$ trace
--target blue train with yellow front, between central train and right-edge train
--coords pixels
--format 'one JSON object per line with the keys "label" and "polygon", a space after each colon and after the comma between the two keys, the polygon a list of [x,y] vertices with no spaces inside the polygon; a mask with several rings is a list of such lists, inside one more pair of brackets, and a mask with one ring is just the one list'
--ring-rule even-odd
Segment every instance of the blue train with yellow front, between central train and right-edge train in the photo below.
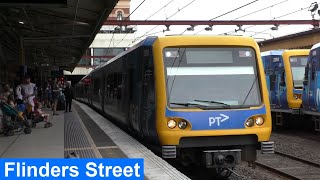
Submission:
{"label": "blue train with yellow front, between central train and right-edge train", "polygon": [[273,125],[298,125],[302,104],[304,68],[310,50],[272,50],[262,52]]}

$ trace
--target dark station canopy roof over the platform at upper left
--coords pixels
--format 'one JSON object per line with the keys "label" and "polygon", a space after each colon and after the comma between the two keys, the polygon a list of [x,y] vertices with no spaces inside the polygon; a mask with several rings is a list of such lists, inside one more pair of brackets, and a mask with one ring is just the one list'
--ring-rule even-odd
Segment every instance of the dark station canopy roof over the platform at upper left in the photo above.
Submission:
{"label": "dark station canopy roof over the platform at upper left", "polygon": [[72,71],[117,2],[1,0],[0,56]]}

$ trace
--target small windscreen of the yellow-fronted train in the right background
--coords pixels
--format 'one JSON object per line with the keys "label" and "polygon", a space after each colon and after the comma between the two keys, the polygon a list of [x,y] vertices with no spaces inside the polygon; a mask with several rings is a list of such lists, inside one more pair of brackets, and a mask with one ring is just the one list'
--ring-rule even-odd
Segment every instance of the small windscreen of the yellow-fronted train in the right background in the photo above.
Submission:
{"label": "small windscreen of the yellow-fronted train in the right background", "polygon": [[295,88],[303,87],[303,78],[305,67],[308,62],[308,56],[291,56],[290,66],[292,72],[293,86]]}

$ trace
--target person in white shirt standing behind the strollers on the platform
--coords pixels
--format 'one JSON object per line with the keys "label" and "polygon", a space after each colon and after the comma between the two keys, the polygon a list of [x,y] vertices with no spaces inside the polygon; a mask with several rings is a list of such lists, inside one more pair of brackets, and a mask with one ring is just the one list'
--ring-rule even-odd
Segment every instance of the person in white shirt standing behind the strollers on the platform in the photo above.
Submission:
{"label": "person in white shirt standing behind the strollers on the platform", "polygon": [[37,88],[36,85],[31,83],[30,76],[25,76],[24,83],[21,84],[23,90],[23,99],[31,105],[31,110],[34,111],[34,98],[36,97]]}

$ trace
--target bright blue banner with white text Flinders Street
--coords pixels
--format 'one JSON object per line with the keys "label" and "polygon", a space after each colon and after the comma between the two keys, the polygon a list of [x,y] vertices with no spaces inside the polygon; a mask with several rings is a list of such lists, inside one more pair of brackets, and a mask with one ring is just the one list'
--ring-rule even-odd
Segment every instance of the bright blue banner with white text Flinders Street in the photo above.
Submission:
{"label": "bright blue banner with white text Flinders Street", "polygon": [[143,159],[0,159],[0,179],[144,179]]}

